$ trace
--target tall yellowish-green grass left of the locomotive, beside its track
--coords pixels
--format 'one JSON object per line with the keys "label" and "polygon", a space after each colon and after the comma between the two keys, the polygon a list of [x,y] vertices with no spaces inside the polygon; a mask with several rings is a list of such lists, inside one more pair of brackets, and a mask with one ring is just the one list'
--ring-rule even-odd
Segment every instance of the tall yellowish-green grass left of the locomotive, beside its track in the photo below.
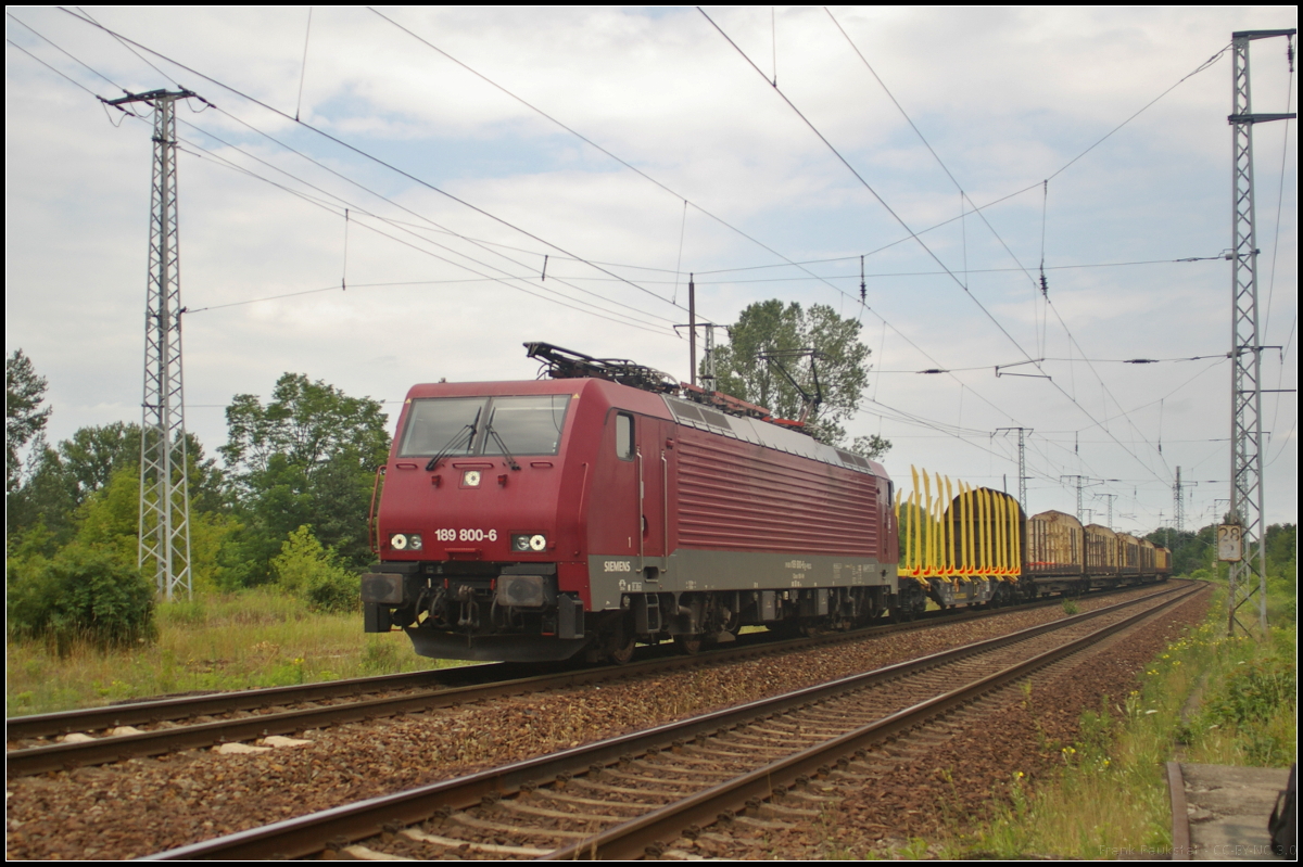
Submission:
{"label": "tall yellowish-green grass left of the locomotive, beside its track", "polygon": [[158,627],[156,643],[107,652],[10,637],[5,715],[457,664],[417,656],[403,633],[365,634],[361,614],[313,613],[267,588],[164,603]]}

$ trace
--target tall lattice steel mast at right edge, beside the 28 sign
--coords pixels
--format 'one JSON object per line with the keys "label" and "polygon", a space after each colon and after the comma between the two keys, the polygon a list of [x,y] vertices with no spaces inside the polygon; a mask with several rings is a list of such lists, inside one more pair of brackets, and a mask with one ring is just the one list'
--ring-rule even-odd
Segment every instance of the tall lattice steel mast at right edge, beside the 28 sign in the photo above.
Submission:
{"label": "tall lattice steel mast at right edge, beside the 28 sign", "polygon": [[[1259,630],[1267,635],[1267,527],[1263,523],[1263,345],[1257,333],[1257,230],[1253,212],[1253,124],[1296,115],[1253,115],[1248,87],[1248,46],[1285,36],[1290,30],[1240,30],[1231,34],[1231,424],[1230,516],[1243,527],[1243,558],[1230,564],[1227,622],[1248,633],[1237,612],[1257,594]],[[1293,47],[1291,47],[1293,48]],[[1257,581],[1253,581],[1257,573]],[[1256,585],[1256,586],[1255,586]]]}

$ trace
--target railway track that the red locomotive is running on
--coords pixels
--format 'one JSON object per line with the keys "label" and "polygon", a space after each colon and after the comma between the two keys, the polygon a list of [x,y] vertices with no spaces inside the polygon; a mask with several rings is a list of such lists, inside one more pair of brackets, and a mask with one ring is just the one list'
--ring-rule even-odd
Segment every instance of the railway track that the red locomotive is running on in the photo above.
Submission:
{"label": "railway track that the red locomotive is running on", "polygon": [[[697,656],[667,656],[655,652],[657,648],[649,648],[652,651],[646,654],[649,659],[629,665],[576,667],[525,677],[521,674],[530,670],[529,667],[499,663],[14,717],[5,721],[7,776],[9,778],[31,776],[137,756],[294,734],[330,725],[423,712],[506,695],[718,665],[1055,604],[1059,604],[1058,599],[1012,609],[933,612],[932,617],[908,624],[870,626],[848,633],[790,640],[775,642],[760,635],[749,639],[744,635],[735,646]],[[224,719],[215,719],[219,716]],[[63,742],[56,741],[68,734],[73,737]]]}

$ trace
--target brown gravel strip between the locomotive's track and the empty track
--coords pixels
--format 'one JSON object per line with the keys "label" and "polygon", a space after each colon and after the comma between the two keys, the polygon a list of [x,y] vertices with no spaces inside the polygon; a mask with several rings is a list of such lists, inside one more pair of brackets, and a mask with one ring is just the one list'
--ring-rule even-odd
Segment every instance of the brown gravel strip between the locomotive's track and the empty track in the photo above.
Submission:
{"label": "brown gravel strip between the locomotive's track and the empty track", "polygon": [[[1139,588],[1081,600],[1079,605],[1092,611],[1149,592],[1153,588]],[[1058,607],[1011,611],[692,672],[311,730],[300,736],[310,741],[308,745],[265,752],[190,750],[10,780],[5,786],[5,855],[134,858],[791,691],[1063,616]]]}

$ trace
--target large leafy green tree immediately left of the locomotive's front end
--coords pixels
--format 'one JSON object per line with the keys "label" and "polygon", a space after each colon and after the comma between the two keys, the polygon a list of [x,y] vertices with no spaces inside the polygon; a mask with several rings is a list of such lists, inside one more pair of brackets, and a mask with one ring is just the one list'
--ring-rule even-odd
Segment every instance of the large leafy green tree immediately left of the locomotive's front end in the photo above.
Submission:
{"label": "large leafy green tree immediately left of the locomotive's front end", "polygon": [[370,558],[366,513],[375,467],[390,448],[380,404],[301,374],[276,381],[271,401],[237,394],[227,407],[225,458],[242,529],[228,552],[238,583],[271,581],[271,560],[291,532],[311,526],[344,562]]}

